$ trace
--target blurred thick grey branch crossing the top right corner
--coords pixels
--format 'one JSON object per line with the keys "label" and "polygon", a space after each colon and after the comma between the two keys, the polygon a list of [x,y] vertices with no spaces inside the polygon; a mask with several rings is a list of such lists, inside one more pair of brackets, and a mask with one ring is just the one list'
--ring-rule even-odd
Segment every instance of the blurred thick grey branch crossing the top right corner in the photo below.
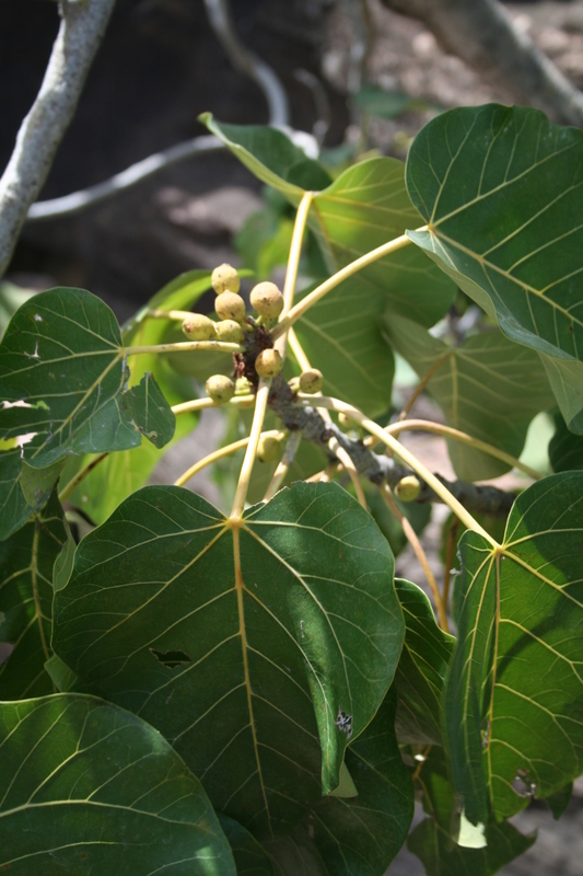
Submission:
{"label": "blurred thick grey branch crossing the top right corner", "polygon": [[381,0],[393,12],[418,19],[453,55],[517,103],[544,110],[555,122],[583,127],[583,93],[520,33],[497,0]]}

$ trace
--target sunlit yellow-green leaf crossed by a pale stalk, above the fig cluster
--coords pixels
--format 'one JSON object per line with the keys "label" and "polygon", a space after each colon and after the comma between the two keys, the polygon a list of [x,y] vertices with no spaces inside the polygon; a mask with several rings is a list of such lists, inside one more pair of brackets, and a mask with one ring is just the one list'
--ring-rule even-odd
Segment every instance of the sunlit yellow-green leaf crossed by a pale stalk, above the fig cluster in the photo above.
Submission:
{"label": "sunlit yellow-green leaf crossed by a pale stalk, above the fig cluster", "polygon": [[[362,161],[341,173],[314,198],[310,221],[330,272],[422,223],[407,194],[405,165],[392,158]],[[447,311],[455,286],[416,246],[404,246],[345,281],[342,293],[429,326]],[[360,307],[352,303],[352,311]]]}

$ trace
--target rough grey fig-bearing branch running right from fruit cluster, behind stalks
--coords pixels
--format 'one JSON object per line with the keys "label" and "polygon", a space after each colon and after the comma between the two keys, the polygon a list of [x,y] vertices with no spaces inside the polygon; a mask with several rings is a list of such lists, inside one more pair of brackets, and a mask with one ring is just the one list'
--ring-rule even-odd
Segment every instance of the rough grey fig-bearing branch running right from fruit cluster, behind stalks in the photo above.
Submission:
{"label": "rough grey fig-bearing branch running right from fruit cluster, behind stalks", "polygon": [[[302,437],[320,447],[328,456],[328,442],[335,437],[339,446],[347,451],[354,463],[357,472],[371,483],[381,486],[388,484],[395,487],[411,471],[399,465],[389,457],[373,453],[362,441],[354,440],[341,431],[334,423],[327,423],[315,407],[294,404],[295,395],[281,377],[271,384],[269,406],[290,431],[301,430]],[[516,498],[513,493],[505,493],[493,486],[476,486],[465,481],[446,481],[438,475],[450,493],[474,514],[487,514],[492,517],[506,517]],[[423,482],[417,502],[442,502],[442,499]]]}

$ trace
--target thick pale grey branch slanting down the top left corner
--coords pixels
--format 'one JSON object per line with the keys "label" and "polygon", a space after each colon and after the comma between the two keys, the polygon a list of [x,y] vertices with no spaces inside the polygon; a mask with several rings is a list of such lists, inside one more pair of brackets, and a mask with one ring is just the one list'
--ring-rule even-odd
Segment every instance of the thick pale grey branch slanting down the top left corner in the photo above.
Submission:
{"label": "thick pale grey branch slanting down the top left corner", "polygon": [[0,180],[0,276],[69,127],[115,0],[62,0],[45,78]]}

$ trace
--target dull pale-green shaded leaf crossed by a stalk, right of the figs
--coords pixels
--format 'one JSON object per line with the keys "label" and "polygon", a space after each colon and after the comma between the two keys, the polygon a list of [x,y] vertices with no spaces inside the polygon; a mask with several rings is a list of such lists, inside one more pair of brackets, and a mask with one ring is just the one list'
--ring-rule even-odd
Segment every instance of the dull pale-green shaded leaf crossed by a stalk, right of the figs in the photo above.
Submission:
{"label": "dull pale-green shaded leaf crossed by a stalk, right of the figs", "polygon": [[[553,404],[538,355],[500,332],[473,335],[450,347],[410,320],[389,316],[385,333],[420,378],[430,368],[438,369],[428,390],[445,414],[447,426],[513,457],[521,456],[533,417]],[[457,476],[464,481],[488,481],[512,468],[460,441],[448,439],[447,449]]]}

